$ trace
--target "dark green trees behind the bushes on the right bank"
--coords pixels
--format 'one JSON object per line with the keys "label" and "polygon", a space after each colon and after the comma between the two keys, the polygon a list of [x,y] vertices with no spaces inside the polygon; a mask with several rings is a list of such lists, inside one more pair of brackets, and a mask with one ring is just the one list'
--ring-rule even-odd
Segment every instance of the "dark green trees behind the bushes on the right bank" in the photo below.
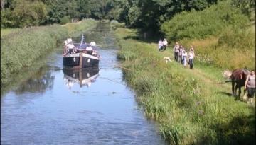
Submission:
{"label": "dark green trees behind the bushes on the right bank", "polygon": [[217,0],[166,1],[166,0],[115,0],[117,8],[122,8],[118,21],[144,31],[159,30],[159,26],[181,11],[198,11],[216,4]]}

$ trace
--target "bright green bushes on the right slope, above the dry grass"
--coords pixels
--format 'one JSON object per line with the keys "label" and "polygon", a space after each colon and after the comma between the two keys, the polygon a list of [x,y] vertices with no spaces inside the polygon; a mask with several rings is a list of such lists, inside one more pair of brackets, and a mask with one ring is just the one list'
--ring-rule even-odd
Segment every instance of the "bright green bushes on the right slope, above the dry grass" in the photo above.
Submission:
{"label": "bright green bushes on the right slope, above the dry grass", "polygon": [[238,8],[223,1],[203,11],[182,12],[161,25],[161,31],[169,40],[188,38],[206,38],[218,35],[230,25],[245,28],[249,20]]}

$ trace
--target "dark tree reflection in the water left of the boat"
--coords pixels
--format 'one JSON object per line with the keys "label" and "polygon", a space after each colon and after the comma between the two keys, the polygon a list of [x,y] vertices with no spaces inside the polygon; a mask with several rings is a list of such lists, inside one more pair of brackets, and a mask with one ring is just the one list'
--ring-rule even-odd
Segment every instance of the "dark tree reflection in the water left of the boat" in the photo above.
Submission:
{"label": "dark tree reflection in the water left of the boat", "polygon": [[53,88],[55,76],[52,75],[52,71],[49,71],[48,66],[43,66],[39,69],[35,75],[28,79],[27,81],[21,83],[15,93],[21,95],[23,93],[43,93],[47,88]]}

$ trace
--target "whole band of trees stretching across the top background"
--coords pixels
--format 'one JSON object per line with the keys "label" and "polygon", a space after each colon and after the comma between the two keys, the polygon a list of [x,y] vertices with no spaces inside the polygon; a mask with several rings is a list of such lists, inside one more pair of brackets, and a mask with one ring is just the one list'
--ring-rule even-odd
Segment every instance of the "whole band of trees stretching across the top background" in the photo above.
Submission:
{"label": "whole band of trees stretching across the top background", "polygon": [[[67,23],[82,18],[114,19],[127,27],[158,31],[161,24],[183,11],[203,11],[227,0],[1,0],[1,28]],[[255,1],[234,0],[249,15]]]}

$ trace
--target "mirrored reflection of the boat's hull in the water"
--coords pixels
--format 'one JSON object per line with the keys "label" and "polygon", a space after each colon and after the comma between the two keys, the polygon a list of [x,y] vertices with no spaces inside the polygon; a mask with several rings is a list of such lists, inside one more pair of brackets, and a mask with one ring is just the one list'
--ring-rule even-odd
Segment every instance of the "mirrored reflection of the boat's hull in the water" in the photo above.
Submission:
{"label": "mirrored reflection of the boat's hull in the water", "polygon": [[63,68],[64,81],[68,88],[71,88],[74,83],[78,83],[80,87],[90,87],[99,76],[99,68],[90,69],[67,69]]}

